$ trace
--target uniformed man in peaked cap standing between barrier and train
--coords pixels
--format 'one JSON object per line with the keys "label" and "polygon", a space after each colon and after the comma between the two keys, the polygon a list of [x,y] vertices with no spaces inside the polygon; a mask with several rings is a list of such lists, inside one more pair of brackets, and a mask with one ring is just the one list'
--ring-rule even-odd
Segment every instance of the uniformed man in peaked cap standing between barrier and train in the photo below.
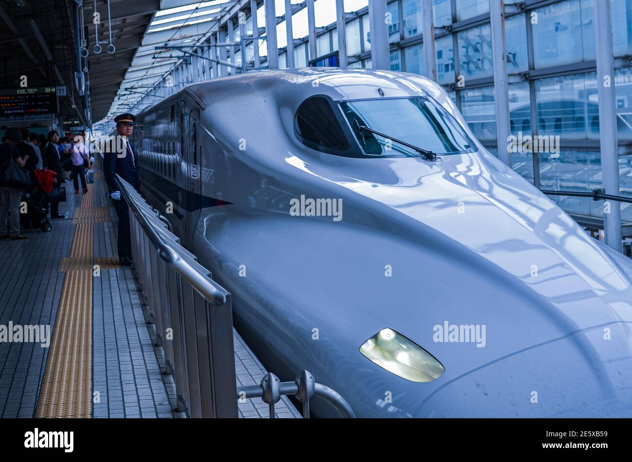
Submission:
{"label": "uniformed man in peaked cap standing between barrier and train", "polygon": [[[131,235],[130,235],[130,210],[125,199],[121,196],[119,187],[116,184],[114,175],[118,174],[126,182],[131,184],[137,190],[140,188],[140,179],[138,178],[137,159],[135,155],[134,145],[130,141],[131,134],[134,131],[134,122],[136,117],[133,114],[121,114],[114,117],[116,122],[116,133],[123,141],[122,152],[112,148],[104,154],[103,170],[106,177],[107,186],[110,188],[110,197],[114,200],[114,210],[118,215],[118,254],[119,263],[123,266],[131,265]],[[120,140],[114,143],[115,146],[121,146]]]}

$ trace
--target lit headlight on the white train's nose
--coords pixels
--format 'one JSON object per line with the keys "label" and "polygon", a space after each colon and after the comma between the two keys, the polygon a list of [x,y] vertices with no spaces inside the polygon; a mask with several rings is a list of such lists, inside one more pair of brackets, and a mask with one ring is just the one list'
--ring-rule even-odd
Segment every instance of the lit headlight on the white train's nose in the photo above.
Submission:
{"label": "lit headlight on the white train's nose", "polygon": [[443,365],[415,342],[393,329],[382,329],[360,346],[360,353],[375,364],[411,382],[432,382]]}

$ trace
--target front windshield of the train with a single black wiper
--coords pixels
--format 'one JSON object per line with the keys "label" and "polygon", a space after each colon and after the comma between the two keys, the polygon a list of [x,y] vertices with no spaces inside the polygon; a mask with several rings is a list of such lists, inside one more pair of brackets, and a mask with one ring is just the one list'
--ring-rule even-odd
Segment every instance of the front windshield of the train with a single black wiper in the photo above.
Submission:
{"label": "front windshield of the train with a single black wiper", "polygon": [[[427,98],[390,98],[341,103],[365,154],[382,157],[475,152],[465,130]],[[417,149],[415,149],[417,148]]]}

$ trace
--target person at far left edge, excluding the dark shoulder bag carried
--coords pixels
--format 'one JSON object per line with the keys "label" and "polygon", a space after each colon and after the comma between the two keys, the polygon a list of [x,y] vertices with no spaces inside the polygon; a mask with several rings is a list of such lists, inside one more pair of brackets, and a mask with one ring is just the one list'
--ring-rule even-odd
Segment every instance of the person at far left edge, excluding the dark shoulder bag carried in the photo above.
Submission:
{"label": "person at far left edge, excluding the dark shoulder bag carried", "polygon": [[[0,171],[4,171],[9,167],[11,162],[16,162],[21,169],[24,168],[28,161],[23,160],[20,151],[15,145],[20,141],[21,134],[17,128],[9,128],[4,134],[6,142],[0,145]],[[2,206],[0,208],[0,239],[27,239],[28,236],[20,233],[20,200],[22,191],[16,187],[8,187],[0,185],[0,200]],[[7,219],[9,223],[7,224]]]}

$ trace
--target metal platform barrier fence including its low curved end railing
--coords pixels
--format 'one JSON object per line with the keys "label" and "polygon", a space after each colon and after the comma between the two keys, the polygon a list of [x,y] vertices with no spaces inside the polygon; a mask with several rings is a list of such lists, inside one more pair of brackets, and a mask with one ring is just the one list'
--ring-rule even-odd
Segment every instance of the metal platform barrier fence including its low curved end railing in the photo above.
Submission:
{"label": "metal platform barrier fence including its low curved end railing", "polygon": [[307,370],[295,382],[267,374],[260,385],[237,388],[230,293],[212,280],[197,258],[179,244],[159,214],[128,182],[116,175],[130,210],[133,273],[143,307],[155,324],[165,372],[173,375],[178,412],[187,417],[238,417],[238,400],[262,398],[270,406],[282,395],[295,395],[309,417],[315,397],[334,405],[343,417],[354,417],[344,398],[316,383]]}

